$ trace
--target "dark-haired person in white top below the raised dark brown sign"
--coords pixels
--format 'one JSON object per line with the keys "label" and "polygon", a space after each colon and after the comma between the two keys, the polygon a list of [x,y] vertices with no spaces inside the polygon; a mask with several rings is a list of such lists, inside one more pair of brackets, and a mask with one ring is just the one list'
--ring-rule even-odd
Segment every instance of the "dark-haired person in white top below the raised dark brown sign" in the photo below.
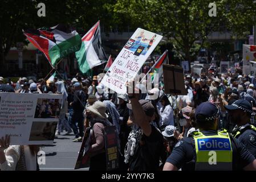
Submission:
{"label": "dark-haired person in white top below the raised dark brown sign", "polygon": [[174,126],[173,109],[170,106],[170,102],[166,95],[160,98],[160,103],[162,105],[161,109],[159,110],[160,127],[164,130],[168,125]]}

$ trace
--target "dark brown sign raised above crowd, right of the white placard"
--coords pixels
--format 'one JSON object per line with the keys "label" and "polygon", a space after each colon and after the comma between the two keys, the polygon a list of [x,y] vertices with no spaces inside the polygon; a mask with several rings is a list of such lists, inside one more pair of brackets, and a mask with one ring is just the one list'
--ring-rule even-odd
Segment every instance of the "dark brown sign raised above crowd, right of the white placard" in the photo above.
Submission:
{"label": "dark brown sign raised above crowd, right of the white placard", "polygon": [[183,69],[178,66],[163,64],[164,93],[174,95],[188,94],[185,89]]}

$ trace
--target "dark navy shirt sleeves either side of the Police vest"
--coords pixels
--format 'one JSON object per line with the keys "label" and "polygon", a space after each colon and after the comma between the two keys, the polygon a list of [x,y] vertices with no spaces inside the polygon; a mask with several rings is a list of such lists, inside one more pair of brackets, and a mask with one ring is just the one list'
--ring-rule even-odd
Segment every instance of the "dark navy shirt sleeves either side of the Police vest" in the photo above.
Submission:
{"label": "dark navy shirt sleeves either side of the Police vest", "polygon": [[[216,131],[201,132],[206,136],[217,135]],[[235,140],[237,141],[238,148],[235,147],[234,142],[231,140],[233,170],[241,170],[253,162],[255,158],[239,140]],[[170,154],[166,162],[173,164],[177,168],[182,168],[182,171],[194,171],[196,166],[196,147],[194,145],[193,137],[183,138],[174,146],[172,154]]]}

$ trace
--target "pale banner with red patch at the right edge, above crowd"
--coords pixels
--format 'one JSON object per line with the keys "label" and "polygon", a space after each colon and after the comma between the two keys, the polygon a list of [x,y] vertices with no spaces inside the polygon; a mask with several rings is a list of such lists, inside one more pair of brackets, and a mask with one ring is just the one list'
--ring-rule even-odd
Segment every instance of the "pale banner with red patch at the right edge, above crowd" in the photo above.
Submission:
{"label": "pale banner with red patch at the right edge, above crowd", "polygon": [[245,75],[251,73],[253,64],[250,64],[250,61],[256,61],[256,46],[243,44],[243,74]]}

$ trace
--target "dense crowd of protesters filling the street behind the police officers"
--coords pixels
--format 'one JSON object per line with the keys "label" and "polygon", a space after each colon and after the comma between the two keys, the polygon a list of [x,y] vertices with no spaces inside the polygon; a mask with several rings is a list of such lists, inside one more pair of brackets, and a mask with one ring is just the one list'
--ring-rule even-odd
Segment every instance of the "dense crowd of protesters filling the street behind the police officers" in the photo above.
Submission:
{"label": "dense crowd of protesters filling the street behind the police officers", "polygon": [[[231,132],[235,123],[225,106],[232,105],[237,100],[247,100],[253,110],[250,122],[255,125],[256,78],[242,75],[240,70],[220,74],[211,69],[201,75],[185,74],[184,83],[188,94],[176,97],[165,94],[164,86],[145,90],[145,82],[135,83],[140,90],[139,94],[112,93],[100,82],[99,76],[91,78],[79,74],[67,80],[55,77],[48,82],[23,77],[14,83],[0,77],[0,90],[9,85],[9,89],[13,88],[15,93],[62,93],[55,135],[64,134],[64,130],[65,134],[73,132],[75,138],[72,141],[81,142],[86,127],[91,126],[88,150],[91,157],[90,170],[106,169],[105,126],[114,125],[117,129],[119,169],[141,171],[161,170],[176,143],[199,130],[195,113],[202,103],[217,105],[220,108],[218,130],[226,129]],[[159,85],[163,84],[160,82]],[[46,107],[45,109],[43,112],[47,112]],[[8,143],[8,138],[0,140],[2,143],[5,141]],[[6,149],[7,143],[1,144],[0,168],[17,169],[15,166],[22,148],[10,146]],[[30,147],[30,150],[36,151],[36,148]],[[3,151],[6,158],[3,157]],[[14,156],[12,160],[11,156]]]}

